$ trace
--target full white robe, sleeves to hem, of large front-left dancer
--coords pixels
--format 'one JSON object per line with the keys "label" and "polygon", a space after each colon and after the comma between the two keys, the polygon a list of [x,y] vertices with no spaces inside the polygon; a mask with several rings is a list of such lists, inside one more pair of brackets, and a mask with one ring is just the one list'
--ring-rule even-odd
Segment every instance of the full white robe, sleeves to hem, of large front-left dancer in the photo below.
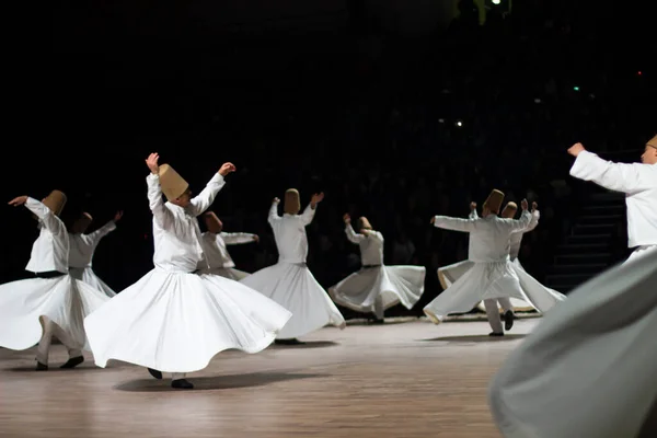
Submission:
{"label": "full white robe, sleeves to hem, of large front-left dancer", "polygon": [[206,260],[196,217],[212,204],[223,177],[216,174],[187,208],[162,200],[158,175],[147,183],[155,267],[84,320],[96,365],[116,359],[185,373],[224,349],[266,348],[290,313],[237,281],[193,274]]}

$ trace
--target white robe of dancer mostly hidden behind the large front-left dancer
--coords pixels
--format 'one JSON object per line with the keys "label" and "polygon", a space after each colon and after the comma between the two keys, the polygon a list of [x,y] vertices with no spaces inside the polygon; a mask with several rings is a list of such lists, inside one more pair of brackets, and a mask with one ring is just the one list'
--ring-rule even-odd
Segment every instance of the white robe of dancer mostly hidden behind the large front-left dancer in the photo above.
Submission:
{"label": "white robe of dancer mostly hidden behind the large front-left dancer", "polygon": [[255,239],[255,234],[249,233],[227,233],[219,234],[206,231],[200,239],[203,252],[207,258],[207,267],[198,266],[204,274],[214,274],[221,277],[230,278],[240,281],[249,276],[247,273],[235,269],[235,263],[228,253],[227,245],[237,245],[241,243],[251,243]]}

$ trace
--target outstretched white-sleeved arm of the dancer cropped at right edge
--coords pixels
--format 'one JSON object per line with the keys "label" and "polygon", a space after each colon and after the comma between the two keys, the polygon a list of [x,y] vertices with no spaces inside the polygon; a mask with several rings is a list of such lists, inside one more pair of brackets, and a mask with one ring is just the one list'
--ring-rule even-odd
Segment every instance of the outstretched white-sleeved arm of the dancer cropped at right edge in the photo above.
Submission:
{"label": "outstretched white-sleeved arm of the dancer cropped at right edge", "polygon": [[576,178],[592,181],[607,189],[626,194],[643,192],[657,184],[655,171],[648,164],[606,161],[585,150],[580,143],[568,149],[568,152],[576,157],[570,168],[570,175]]}

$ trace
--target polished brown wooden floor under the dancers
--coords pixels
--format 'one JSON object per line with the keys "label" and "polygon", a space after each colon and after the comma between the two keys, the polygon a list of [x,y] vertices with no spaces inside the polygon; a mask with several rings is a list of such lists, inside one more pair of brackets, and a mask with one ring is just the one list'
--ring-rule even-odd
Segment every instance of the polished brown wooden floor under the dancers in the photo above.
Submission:
{"label": "polished brown wooden floor under the dancers", "polygon": [[35,372],[34,351],[0,349],[0,437],[499,438],[489,378],[538,320],[489,338],[485,322],[324,328],[306,346],[226,351],[172,390],[146,369],[88,360]]}

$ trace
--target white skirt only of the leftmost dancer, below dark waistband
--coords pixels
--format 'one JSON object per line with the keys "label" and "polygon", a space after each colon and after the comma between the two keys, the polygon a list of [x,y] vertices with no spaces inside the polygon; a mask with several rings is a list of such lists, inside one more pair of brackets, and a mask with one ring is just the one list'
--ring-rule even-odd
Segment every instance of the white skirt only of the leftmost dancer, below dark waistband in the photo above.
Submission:
{"label": "white skirt only of the leftmost dancer, below dark waistband", "polygon": [[0,286],[0,346],[23,350],[36,345],[46,316],[70,337],[72,348],[89,350],[83,321],[110,298],[70,275],[28,278]]}

